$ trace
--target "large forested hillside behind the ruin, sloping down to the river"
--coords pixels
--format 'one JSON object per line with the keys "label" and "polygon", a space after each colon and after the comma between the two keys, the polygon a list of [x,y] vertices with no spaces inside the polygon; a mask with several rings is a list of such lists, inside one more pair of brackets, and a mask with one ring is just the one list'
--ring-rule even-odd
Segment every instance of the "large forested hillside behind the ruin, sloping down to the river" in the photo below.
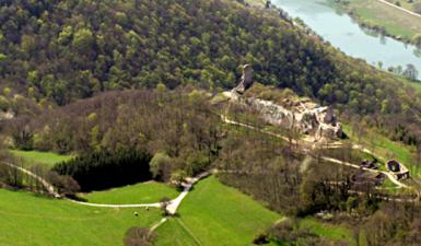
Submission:
{"label": "large forested hillside behind the ruin, sloping down to the river", "polygon": [[[239,2],[239,3],[238,3]],[[366,115],[389,137],[419,142],[420,96],[400,79],[321,44],[273,10],[243,1],[2,1],[2,85],[44,105],[104,90],[233,87],[238,66],[256,80],[291,87]]]}

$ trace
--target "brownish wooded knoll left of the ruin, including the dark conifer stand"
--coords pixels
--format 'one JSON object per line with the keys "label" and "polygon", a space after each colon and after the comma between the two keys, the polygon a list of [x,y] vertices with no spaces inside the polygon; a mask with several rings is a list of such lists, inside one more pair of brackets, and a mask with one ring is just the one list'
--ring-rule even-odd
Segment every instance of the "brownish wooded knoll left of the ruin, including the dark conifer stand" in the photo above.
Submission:
{"label": "brownish wooded knoll left of the ruin, including the dark conifer stand", "polygon": [[20,117],[8,121],[3,132],[16,148],[79,154],[56,171],[72,176],[83,189],[122,185],[119,165],[127,165],[121,172],[128,172],[128,183],[136,179],[130,175],[137,175],[136,181],[151,175],[162,180],[173,173],[176,179],[195,175],[218,155],[222,138],[219,116],[204,91],[168,91],[163,84],[155,90],[108,92],[37,117]]}

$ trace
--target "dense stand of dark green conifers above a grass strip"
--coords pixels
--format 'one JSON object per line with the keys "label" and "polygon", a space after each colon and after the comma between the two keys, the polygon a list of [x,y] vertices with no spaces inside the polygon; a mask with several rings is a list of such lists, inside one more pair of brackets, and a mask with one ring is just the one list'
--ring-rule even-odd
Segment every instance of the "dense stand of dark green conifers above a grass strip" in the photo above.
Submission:
{"label": "dense stand of dark green conifers above a grass strip", "polygon": [[150,154],[136,149],[101,150],[57,164],[52,169],[74,178],[82,191],[91,191],[150,180]]}

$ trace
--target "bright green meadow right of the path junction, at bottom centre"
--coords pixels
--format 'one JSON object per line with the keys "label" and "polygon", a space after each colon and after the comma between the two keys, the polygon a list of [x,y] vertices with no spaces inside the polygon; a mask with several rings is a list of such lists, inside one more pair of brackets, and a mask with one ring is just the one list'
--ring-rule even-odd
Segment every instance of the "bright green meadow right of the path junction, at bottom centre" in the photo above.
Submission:
{"label": "bright green meadow right of the path junction, at bottom centre", "polygon": [[[185,227],[178,230],[183,229],[184,235],[192,234],[199,245],[206,246],[252,245],[256,235],[282,218],[213,176],[195,186],[183,201],[179,215]],[[177,244],[176,235],[165,227],[157,230],[157,236],[159,246],[184,246]]]}

